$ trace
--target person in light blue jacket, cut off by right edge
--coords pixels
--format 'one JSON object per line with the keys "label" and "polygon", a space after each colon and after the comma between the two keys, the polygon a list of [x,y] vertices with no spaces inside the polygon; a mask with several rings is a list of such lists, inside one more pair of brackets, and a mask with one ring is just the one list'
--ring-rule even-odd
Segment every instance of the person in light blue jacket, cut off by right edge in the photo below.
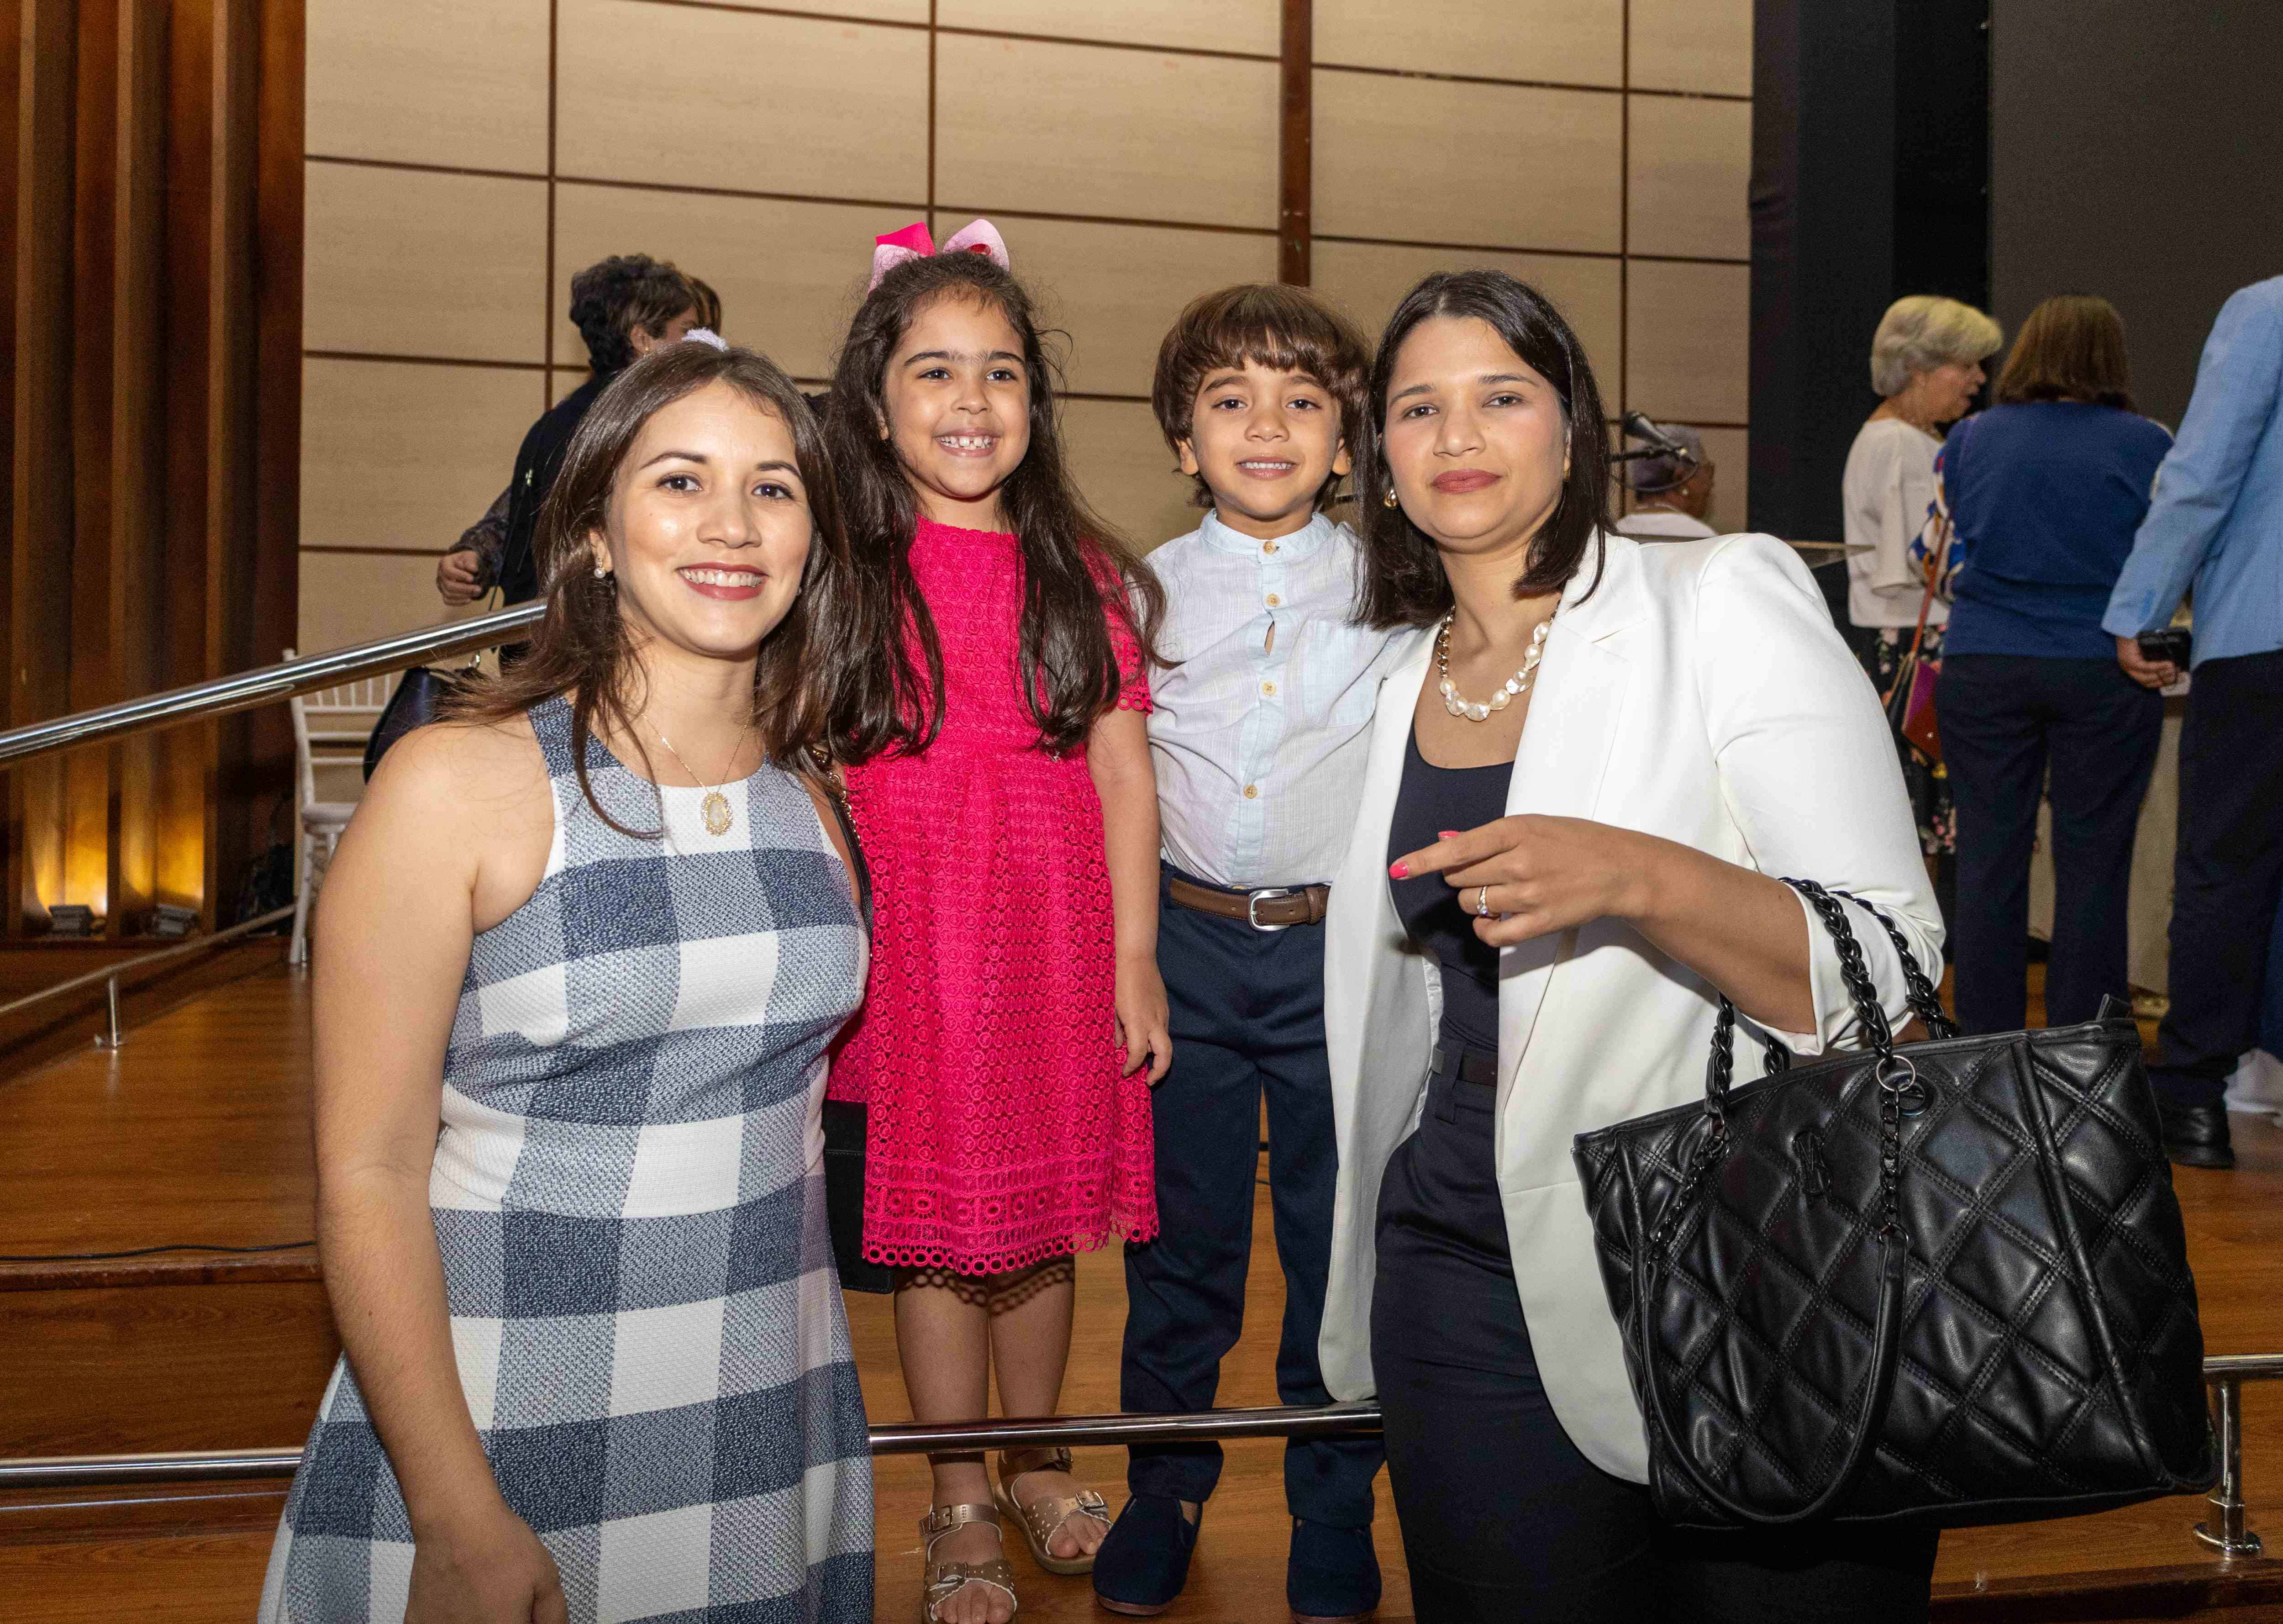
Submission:
{"label": "person in light blue jacket, cut off by right edge", "polygon": [[2180,439],[2157,468],[2100,628],[2157,688],[2176,672],[2137,637],[2194,589],[2196,681],[2180,733],[2171,1012],[2148,1069],[2176,1163],[2233,1167],[2221,1090],[2258,1046],[2283,891],[2283,276],[2237,290],[2212,322]]}

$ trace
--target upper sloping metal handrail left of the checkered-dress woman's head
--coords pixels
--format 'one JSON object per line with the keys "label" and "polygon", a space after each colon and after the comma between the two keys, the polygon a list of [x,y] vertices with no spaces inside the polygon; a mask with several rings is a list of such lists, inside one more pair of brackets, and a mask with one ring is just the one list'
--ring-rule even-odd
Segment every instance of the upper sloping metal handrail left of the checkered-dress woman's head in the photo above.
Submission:
{"label": "upper sloping metal handrail left of the checkered-dress woman's head", "polygon": [[377,642],[361,642],[347,649],[331,649],[326,653],[306,653],[299,660],[285,660],[283,665],[265,665],[253,672],[217,676],[210,683],[171,688],[164,694],[148,694],[144,699],[103,706],[100,710],[80,710],[78,715],[57,717],[53,722],[34,722],[32,726],[9,729],[7,733],[0,733],[0,767],[11,767],[21,761],[32,761],[34,756],[53,756],[62,749],[100,745],[103,740],[126,738],[128,733],[148,733],[162,726],[180,726],[185,722],[231,715],[233,710],[272,706],[297,694],[313,694],[320,688],[354,683],[361,676],[386,676],[388,672],[402,672],[452,653],[491,649],[493,644],[507,642],[509,633],[532,626],[546,617],[546,603],[518,603],[511,610],[479,614],[473,621],[422,626],[420,630],[397,633],[395,637],[381,637]]}

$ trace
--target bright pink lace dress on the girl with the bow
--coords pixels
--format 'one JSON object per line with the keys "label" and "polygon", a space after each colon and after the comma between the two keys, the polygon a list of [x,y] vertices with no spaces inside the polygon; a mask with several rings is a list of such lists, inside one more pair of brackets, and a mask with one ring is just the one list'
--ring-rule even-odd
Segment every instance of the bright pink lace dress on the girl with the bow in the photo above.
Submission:
{"label": "bright pink lace dress on the girl with the bow", "polygon": [[[1121,1078],[1103,809],[1084,749],[1048,756],[1021,699],[1011,534],[920,521],[943,731],[849,770],[872,863],[872,978],[831,1096],[868,1108],[863,1249],[1000,1275],[1157,1233],[1148,1083]],[[1123,690],[1148,681],[1110,614]]]}

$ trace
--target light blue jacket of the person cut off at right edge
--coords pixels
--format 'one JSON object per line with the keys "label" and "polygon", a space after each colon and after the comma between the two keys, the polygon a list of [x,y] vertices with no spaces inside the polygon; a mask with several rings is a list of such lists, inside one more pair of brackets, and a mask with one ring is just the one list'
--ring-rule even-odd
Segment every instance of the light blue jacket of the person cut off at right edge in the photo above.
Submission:
{"label": "light blue jacket of the person cut off at right edge", "polygon": [[2194,662],[2283,649],[2283,276],[2219,306],[2180,439],[2100,628],[2137,637],[2196,587]]}

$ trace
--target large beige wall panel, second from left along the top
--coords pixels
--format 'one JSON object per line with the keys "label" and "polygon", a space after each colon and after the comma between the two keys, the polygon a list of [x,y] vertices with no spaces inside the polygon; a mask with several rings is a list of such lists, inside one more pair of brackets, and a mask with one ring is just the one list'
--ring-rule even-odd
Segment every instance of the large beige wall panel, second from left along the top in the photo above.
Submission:
{"label": "large beige wall panel, second from left along the top", "polygon": [[758,11],[562,0],[557,171],[927,196],[927,34]]}

